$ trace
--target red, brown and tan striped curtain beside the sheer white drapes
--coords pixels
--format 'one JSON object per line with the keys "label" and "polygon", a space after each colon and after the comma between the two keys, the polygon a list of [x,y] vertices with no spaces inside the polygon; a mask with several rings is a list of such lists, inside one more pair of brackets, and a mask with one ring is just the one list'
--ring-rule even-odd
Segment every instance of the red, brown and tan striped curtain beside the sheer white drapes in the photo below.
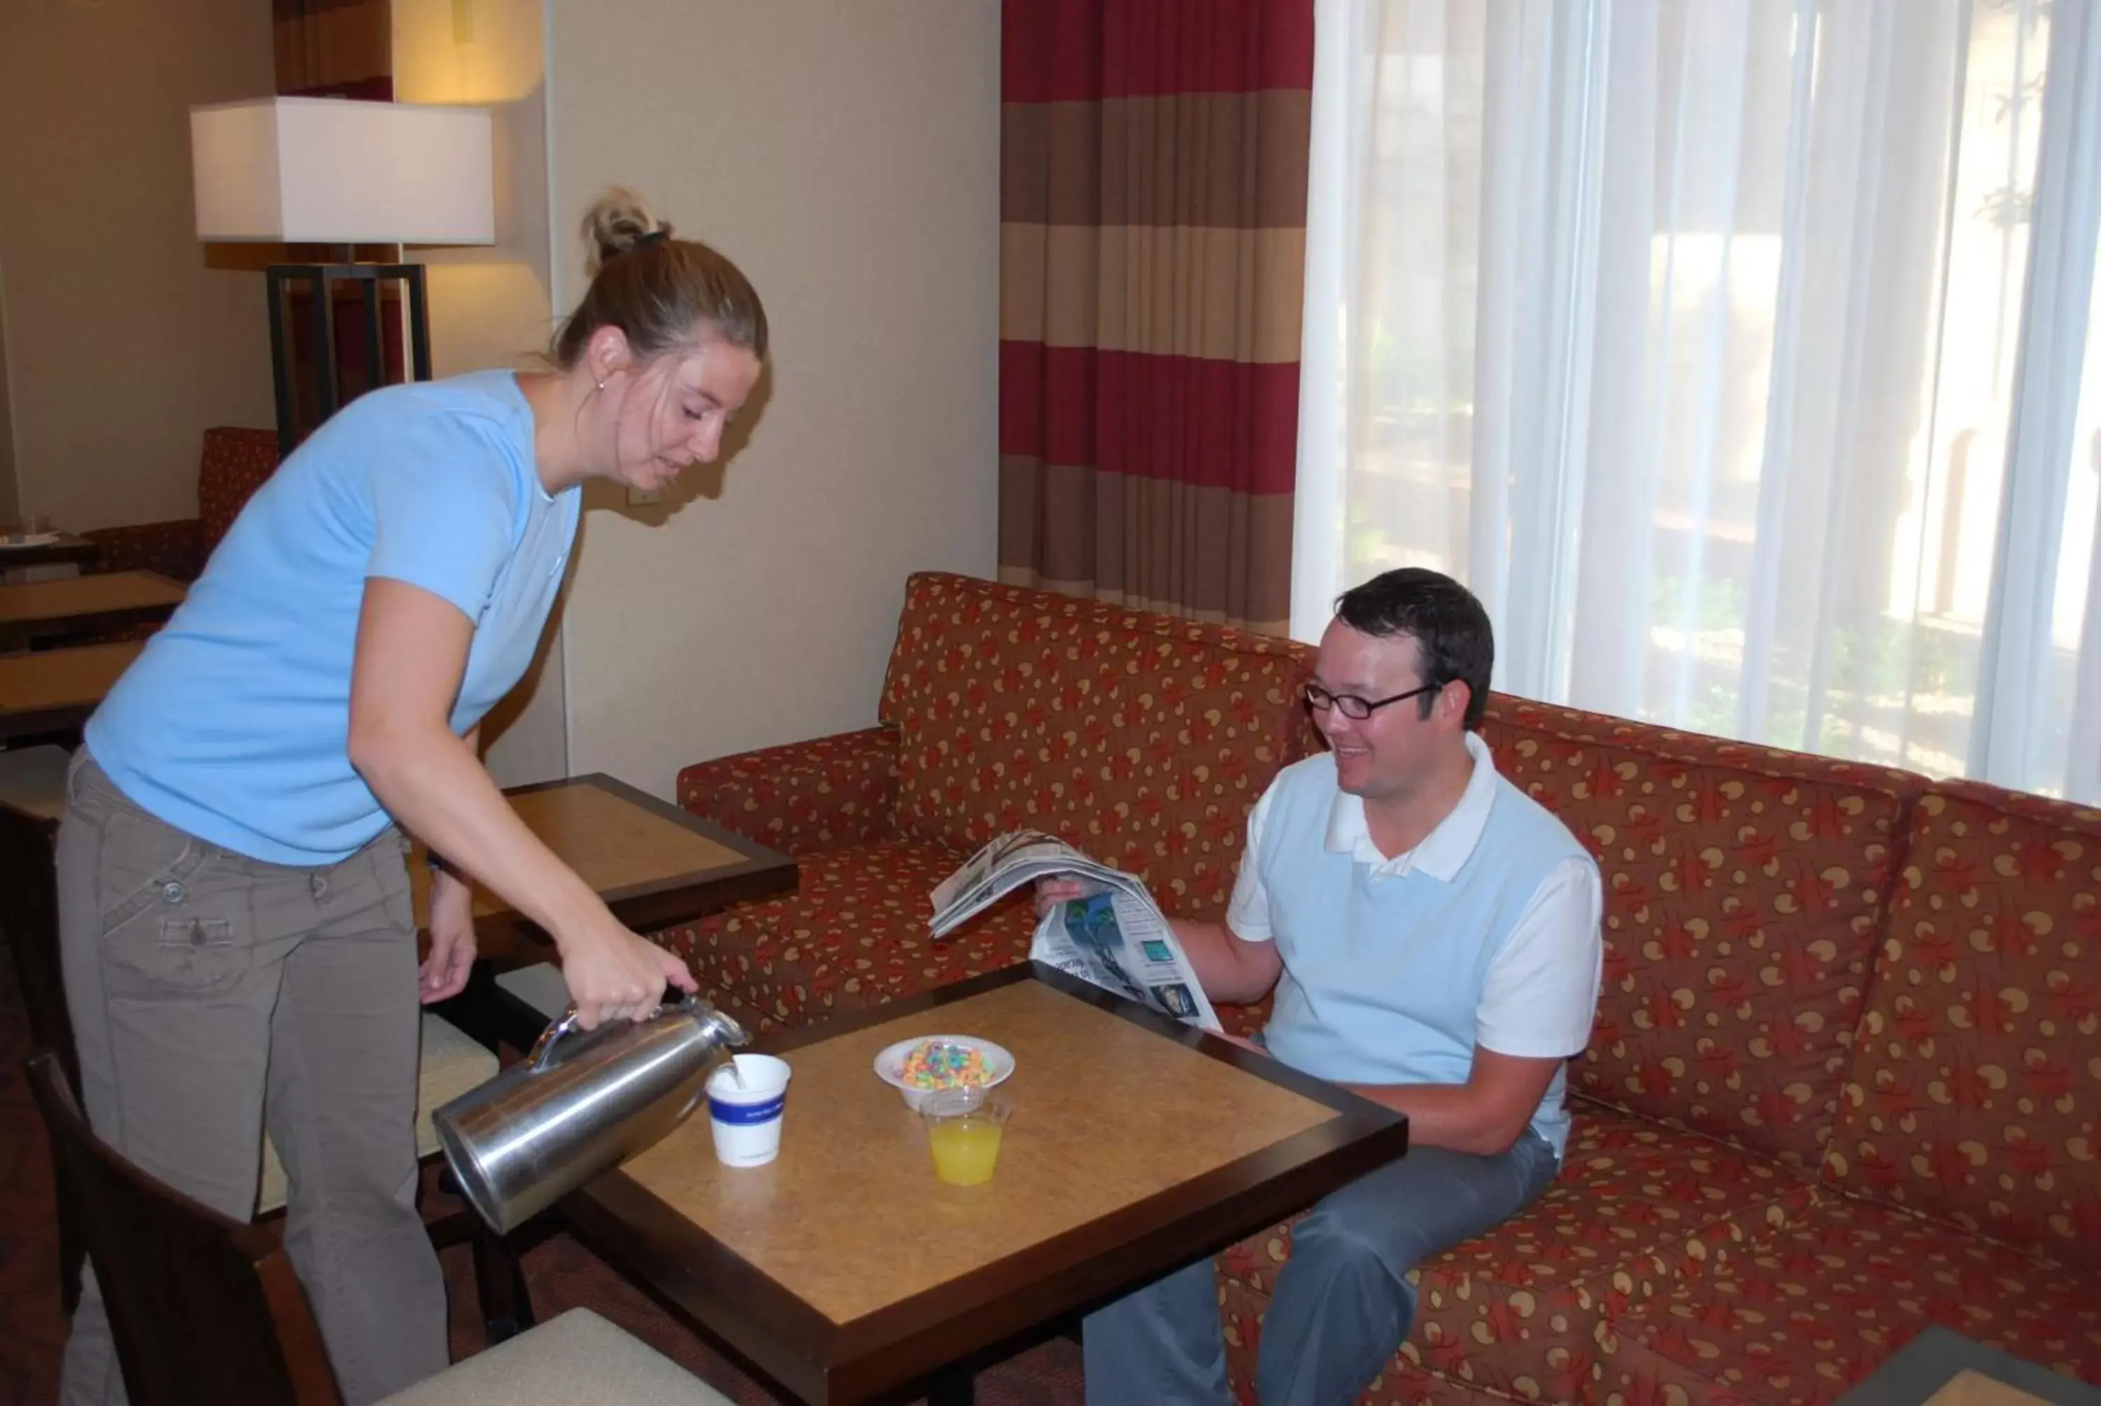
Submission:
{"label": "red, brown and tan striped curtain beside the sheer white drapes", "polygon": [[1000,578],[1284,633],[1313,0],[1004,0]]}

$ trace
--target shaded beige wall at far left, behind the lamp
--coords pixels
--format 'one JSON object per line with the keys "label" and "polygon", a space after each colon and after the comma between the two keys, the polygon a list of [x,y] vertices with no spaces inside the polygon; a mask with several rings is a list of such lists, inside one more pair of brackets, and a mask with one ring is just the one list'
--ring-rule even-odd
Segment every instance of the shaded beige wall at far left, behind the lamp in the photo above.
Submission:
{"label": "shaded beige wall at far left, behind the lamp", "polygon": [[187,517],[208,425],[273,425],[263,277],[204,267],[189,105],[271,92],[258,0],[6,4],[0,288],[21,509]]}

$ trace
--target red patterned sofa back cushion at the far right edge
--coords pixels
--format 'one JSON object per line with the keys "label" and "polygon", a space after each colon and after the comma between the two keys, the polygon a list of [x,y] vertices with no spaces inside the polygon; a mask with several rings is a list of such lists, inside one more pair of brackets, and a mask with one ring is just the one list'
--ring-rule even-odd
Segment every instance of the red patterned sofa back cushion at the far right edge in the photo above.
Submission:
{"label": "red patterned sofa back cushion at the far right edge", "polygon": [[2101,811],[1920,799],[1830,1175],[2101,1269]]}

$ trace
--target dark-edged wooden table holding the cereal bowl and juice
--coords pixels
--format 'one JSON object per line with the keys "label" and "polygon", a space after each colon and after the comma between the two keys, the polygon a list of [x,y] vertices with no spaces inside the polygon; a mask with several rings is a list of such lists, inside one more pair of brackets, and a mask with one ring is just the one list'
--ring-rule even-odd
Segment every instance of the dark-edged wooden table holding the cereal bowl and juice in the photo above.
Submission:
{"label": "dark-edged wooden table holding the cereal bowl and juice", "polygon": [[[975,1034],[1015,1055],[998,1171],[933,1175],[872,1061]],[[601,1257],[811,1406],[969,1400],[1069,1314],[1273,1225],[1408,1147],[1408,1120],[1050,967],[1019,965],[761,1049],[794,1068],[779,1160],[689,1118],[571,1194]]]}

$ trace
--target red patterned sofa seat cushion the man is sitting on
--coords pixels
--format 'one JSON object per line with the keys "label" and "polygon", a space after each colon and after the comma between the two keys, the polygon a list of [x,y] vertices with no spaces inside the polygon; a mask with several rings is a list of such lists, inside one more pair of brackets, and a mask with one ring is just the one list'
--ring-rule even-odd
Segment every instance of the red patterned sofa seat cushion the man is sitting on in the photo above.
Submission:
{"label": "red patterned sofa seat cushion the man is sitting on", "polygon": [[[1389,1372],[1393,1393],[1368,1400],[1416,1400],[1406,1383],[1422,1374],[1530,1402],[1586,1400],[1611,1314],[1813,1198],[1809,1179],[1740,1147],[1582,1103],[1546,1194],[1416,1269],[1416,1324]],[[1240,1379],[1252,1379],[1258,1316],[1288,1255],[1280,1225],[1221,1257]]]}

